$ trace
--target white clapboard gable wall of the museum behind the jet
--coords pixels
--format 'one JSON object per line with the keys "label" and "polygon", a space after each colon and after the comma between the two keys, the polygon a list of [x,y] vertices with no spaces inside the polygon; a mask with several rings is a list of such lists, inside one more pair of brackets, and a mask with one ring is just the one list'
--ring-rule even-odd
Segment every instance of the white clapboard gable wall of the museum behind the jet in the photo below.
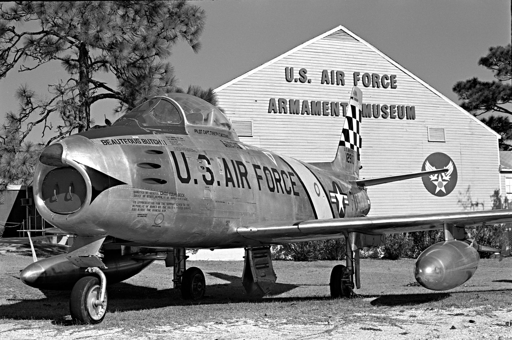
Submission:
{"label": "white clapboard gable wall of the museum behind the jet", "polygon": [[[288,82],[285,68],[307,69],[311,83]],[[321,84],[322,70],[345,72],[345,85]],[[364,87],[362,101],[412,105],[416,119],[363,118],[361,178],[421,170],[434,152],[450,156],[457,186],[450,195],[430,194],[422,180],[410,179],[368,188],[371,216],[492,209],[500,193],[498,135],[456,104],[339,26],[276,57],[216,89],[231,121],[252,122],[252,136],[241,137],[304,161],[330,161],[337,150],[343,117],[268,113],[270,98],[348,102],[353,73],[396,75],[396,89]],[[429,141],[429,129],[444,141]],[[442,130],[441,130],[442,129]],[[432,140],[432,133],[431,133]]]}

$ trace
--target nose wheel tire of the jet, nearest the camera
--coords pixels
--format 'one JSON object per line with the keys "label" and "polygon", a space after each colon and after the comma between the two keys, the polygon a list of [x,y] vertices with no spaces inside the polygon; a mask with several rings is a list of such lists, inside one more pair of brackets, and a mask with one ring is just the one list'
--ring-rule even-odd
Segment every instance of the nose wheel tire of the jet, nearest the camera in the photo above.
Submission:
{"label": "nose wheel tire of the jet, nearest the camera", "polygon": [[84,277],[78,280],[71,290],[69,309],[71,319],[78,324],[98,324],[103,321],[108,301],[105,292],[105,303],[96,306],[101,290],[96,277]]}

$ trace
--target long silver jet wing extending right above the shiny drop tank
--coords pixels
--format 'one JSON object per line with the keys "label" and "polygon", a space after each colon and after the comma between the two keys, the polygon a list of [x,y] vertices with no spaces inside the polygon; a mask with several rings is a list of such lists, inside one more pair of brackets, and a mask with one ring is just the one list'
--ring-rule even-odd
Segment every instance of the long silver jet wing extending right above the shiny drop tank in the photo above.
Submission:
{"label": "long silver jet wing extending right above the shiny drop tank", "polygon": [[443,223],[457,227],[512,222],[512,210],[483,210],[460,213],[394,215],[383,217],[352,217],[342,219],[309,220],[292,225],[262,225],[239,227],[239,235],[266,244],[325,240],[343,237],[345,232],[372,235],[442,229]]}

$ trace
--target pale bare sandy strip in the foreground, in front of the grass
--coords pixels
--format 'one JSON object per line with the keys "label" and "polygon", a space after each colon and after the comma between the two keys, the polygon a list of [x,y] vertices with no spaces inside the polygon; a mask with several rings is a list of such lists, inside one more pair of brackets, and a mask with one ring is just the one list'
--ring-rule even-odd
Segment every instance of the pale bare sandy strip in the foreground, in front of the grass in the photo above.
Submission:
{"label": "pale bare sandy strip in the foreground, in front of the grass", "polygon": [[[193,324],[168,324],[146,329],[95,326],[57,326],[34,321],[30,325],[0,325],[0,339],[509,339],[512,312],[481,313],[480,308],[366,310],[351,318],[326,316],[324,322],[296,324],[293,318],[234,318]],[[506,320],[506,321],[505,321]]]}

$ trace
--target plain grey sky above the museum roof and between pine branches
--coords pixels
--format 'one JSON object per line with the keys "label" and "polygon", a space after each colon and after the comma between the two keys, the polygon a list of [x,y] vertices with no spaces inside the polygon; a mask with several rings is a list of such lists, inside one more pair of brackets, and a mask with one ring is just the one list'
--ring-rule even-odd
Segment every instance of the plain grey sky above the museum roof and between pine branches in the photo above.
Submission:
{"label": "plain grey sky above the museum roof and between pine branches", "polygon": [[[184,42],[170,57],[179,85],[217,88],[303,42],[339,25],[369,42],[456,103],[458,80],[474,76],[493,80],[478,66],[491,46],[511,40],[510,0],[204,0],[202,49],[194,53]],[[0,79],[2,114],[16,111],[14,91],[27,83],[37,93],[49,83],[67,79],[57,62],[36,71],[16,72]],[[105,77],[103,81],[113,81]],[[115,86],[115,82],[111,82]],[[97,123],[111,121],[115,102],[91,108]],[[58,119],[55,119],[58,122]],[[40,132],[33,141],[44,141]]]}

